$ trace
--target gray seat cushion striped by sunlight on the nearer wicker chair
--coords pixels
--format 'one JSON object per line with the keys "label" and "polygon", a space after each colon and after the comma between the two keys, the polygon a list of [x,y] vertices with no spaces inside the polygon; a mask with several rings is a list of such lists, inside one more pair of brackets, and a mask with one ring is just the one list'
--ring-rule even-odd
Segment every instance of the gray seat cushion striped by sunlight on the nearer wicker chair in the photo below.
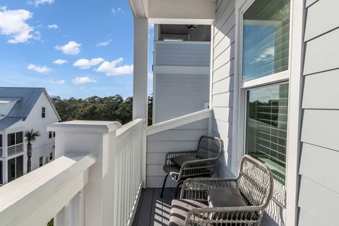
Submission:
{"label": "gray seat cushion striped by sunlight on the nearer wicker chair", "polygon": [[206,201],[191,199],[173,199],[168,226],[184,226],[187,213],[194,208],[207,208]]}

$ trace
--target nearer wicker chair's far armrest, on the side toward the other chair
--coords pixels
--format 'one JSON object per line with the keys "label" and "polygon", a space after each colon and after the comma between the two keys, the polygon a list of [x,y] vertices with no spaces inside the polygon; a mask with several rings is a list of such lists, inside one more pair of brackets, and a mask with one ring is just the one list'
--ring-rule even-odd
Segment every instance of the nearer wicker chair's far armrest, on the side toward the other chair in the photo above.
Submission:
{"label": "nearer wicker chair's far armrest, on the side toward the other chair", "polygon": [[207,200],[208,190],[227,186],[236,186],[237,178],[190,178],[182,184],[180,198]]}

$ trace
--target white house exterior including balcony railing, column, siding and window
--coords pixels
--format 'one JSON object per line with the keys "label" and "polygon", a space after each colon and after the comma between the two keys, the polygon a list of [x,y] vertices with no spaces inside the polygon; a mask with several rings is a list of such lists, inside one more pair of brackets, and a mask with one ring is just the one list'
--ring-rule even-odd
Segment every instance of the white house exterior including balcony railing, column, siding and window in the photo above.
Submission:
{"label": "white house exterior including balcony railing, column, siding and window", "polygon": [[[224,143],[215,177],[234,177],[245,153],[272,169],[261,225],[338,225],[339,1],[130,4],[133,121],[49,126],[58,159],[0,188],[0,225],[55,215],[57,225],[131,225],[141,188],[161,186],[165,153],[192,150],[202,135]],[[148,23],[212,25],[210,109],[146,128]]]}

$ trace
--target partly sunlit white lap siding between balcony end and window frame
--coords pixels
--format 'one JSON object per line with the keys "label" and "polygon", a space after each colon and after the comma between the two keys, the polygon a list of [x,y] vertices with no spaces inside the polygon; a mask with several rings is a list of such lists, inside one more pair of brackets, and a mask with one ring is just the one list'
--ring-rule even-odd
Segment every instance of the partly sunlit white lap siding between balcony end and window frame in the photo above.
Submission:
{"label": "partly sunlit white lap siding between balcony end and window frame", "polygon": [[[230,176],[234,76],[235,1],[217,2],[213,34],[212,133],[224,143],[216,174]],[[228,169],[227,169],[228,168]]]}

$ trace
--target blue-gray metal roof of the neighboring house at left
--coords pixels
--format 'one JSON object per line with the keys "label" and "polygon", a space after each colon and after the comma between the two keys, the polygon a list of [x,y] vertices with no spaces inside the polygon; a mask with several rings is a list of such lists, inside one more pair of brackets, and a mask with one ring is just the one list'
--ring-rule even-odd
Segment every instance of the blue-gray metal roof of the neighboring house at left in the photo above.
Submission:
{"label": "blue-gray metal roof of the neighboring house at left", "polygon": [[[21,119],[25,120],[43,92],[46,93],[47,98],[49,99],[49,95],[44,88],[0,87],[0,100],[17,100],[16,104],[11,109],[11,112],[9,112],[4,119],[0,120],[0,130],[8,128],[8,126],[15,124]],[[51,102],[50,99],[49,102]],[[53,105],[52,107],[54,108]],[[55,109],[54,111],[57,114]]]}

